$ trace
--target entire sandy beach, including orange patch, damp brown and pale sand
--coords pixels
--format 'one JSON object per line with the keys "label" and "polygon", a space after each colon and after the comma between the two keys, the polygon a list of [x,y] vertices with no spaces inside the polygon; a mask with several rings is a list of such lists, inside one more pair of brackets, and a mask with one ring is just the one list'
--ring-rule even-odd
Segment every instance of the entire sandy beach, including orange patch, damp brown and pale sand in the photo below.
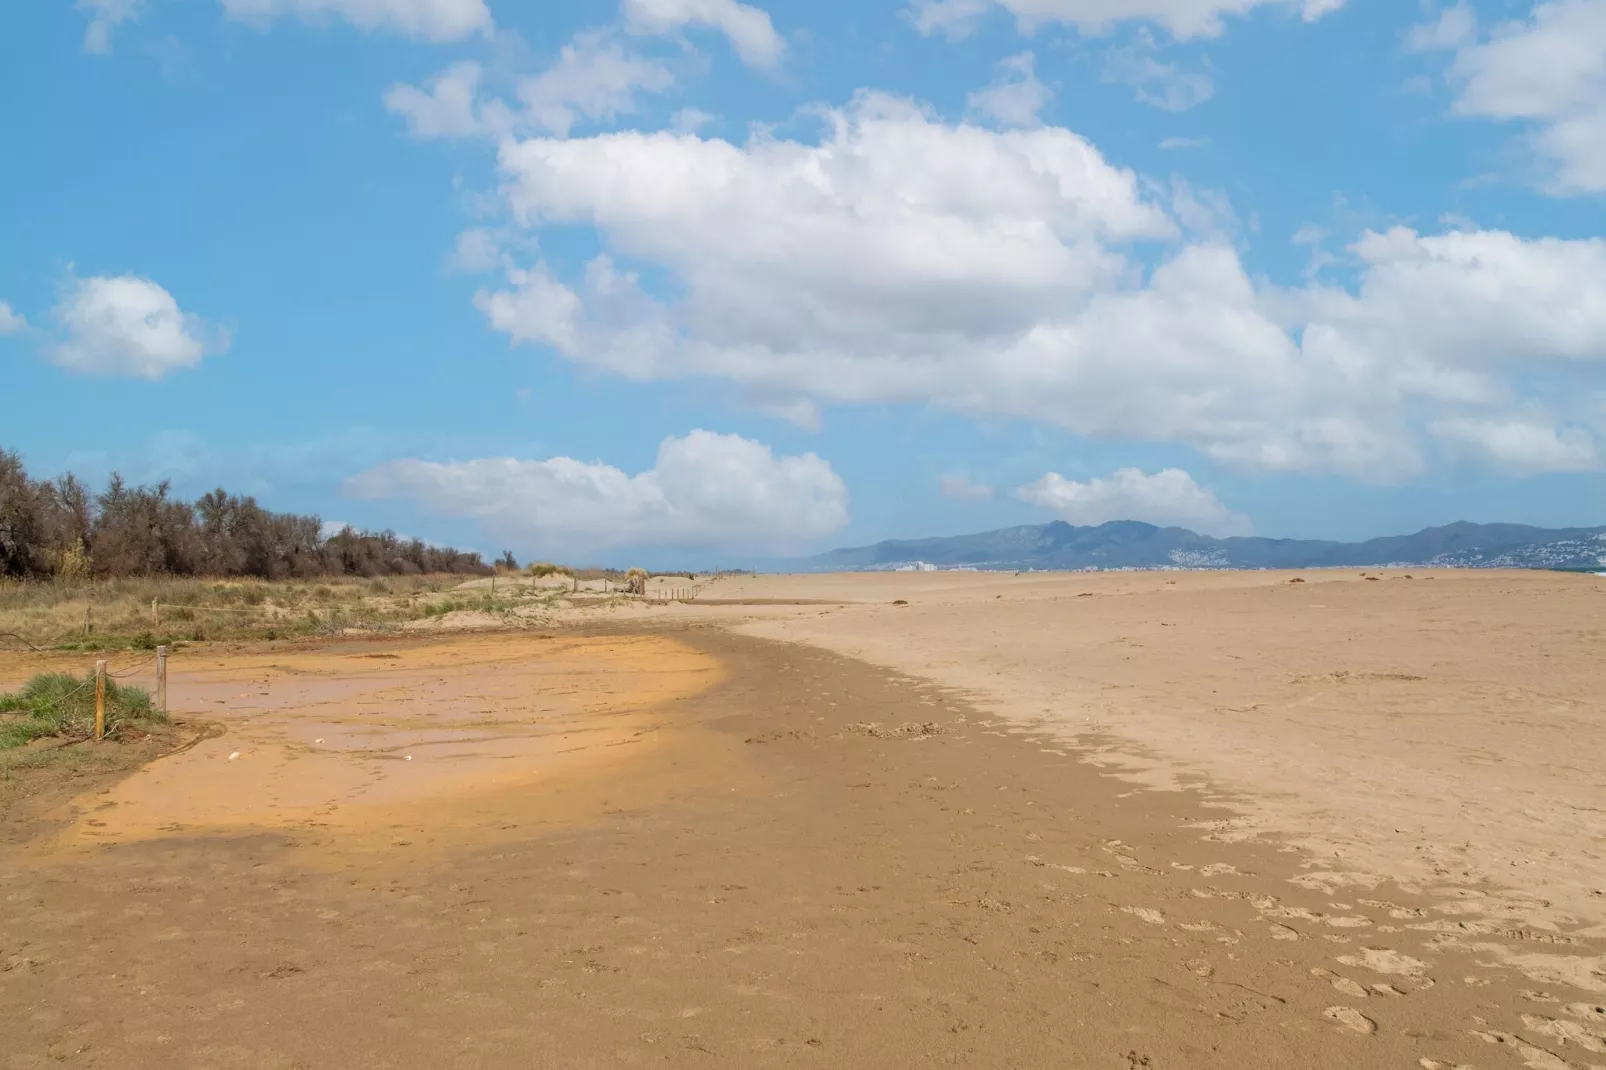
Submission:
{"label": "entire sandy beach, including orange patch, damp brown and pale sand", "polygon": [[199,655],[13,815],[0,1067],[1606,1065],[1606,601],[1413,575]]}

